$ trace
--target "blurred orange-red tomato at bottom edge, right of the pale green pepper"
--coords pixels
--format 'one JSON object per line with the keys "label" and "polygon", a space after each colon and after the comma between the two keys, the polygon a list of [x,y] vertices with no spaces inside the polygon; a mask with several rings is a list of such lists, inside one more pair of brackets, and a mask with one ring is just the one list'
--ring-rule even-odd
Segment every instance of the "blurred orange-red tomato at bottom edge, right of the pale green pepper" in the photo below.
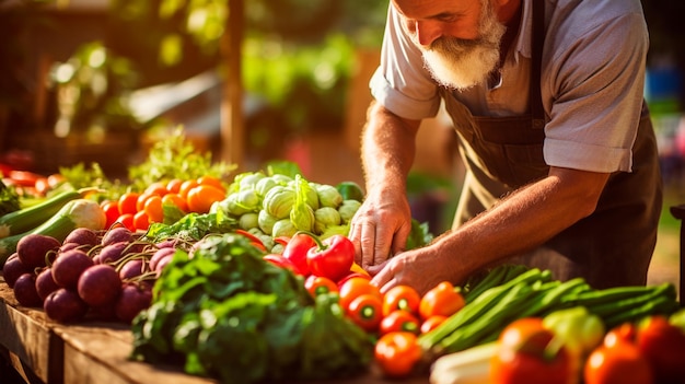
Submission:
{"label": "blurred orange-red tomato at bottom edge, right of the pale green pepper", "polygon": [[618,340],[595,348],[583,368],[585,384],[651,384],[654,383],[649,362],[638,347]]}

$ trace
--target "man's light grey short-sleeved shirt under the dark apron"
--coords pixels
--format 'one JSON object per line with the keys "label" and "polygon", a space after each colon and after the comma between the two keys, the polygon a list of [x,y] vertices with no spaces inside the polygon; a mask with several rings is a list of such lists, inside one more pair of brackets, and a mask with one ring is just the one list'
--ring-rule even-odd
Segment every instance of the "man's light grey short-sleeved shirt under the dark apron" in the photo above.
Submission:
{"label": "man's light grey short-sleeved shirt under the dark apron", "polygon": [[[501,82],[491,89],[484,84],[453,92],[472,115],[527,112],[532,1],[522,0],[521,27],[501,68]],[[649,47],[640,1],[544,1],[545,162],[592,172],[629,172]],[[381,63],[370,88],[380,104],[404,118],[432,117],[440,106],[438,85],[392,2]]]}

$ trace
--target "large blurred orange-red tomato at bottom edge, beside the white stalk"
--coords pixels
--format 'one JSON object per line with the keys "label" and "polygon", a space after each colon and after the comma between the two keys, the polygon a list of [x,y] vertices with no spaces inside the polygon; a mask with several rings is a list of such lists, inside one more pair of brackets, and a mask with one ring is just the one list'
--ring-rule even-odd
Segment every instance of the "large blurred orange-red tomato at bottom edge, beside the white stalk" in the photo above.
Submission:
{"label": "large blurred orange-red tomato at bottom edge, beside the white stalk", "polygon": [[499,336],[490,364],[497,384],[573,383],[572,361],[566,348],[550,353],[554,338],[542,318],[525,317],[509,324]]}

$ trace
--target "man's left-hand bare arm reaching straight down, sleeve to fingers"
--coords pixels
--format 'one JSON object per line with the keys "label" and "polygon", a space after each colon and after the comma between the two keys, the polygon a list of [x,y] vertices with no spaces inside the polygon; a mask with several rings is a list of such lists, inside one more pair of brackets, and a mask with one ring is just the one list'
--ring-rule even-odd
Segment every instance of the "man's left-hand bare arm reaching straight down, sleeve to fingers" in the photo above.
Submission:
{"label": "man's left-hand bare arm reaching straight down, sleeve to fingers", "polygon": [[411,229],[406,184],[419,125],[420,120],[400,118],[380,104],[369,109],[361,144],[367,196],[350,228],[356,260],[362,267],[404,249]]}

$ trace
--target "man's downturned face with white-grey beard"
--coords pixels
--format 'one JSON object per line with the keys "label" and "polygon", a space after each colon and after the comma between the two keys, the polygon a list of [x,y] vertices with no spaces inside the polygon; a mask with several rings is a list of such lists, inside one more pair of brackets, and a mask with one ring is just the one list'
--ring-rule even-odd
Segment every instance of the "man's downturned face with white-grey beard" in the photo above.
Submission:
{"label": "man's downturned face with white-grey beard", "polygon": [[[462,3],[466,2],[468,1],[462,1]],[[406,1],[395,1],[396,5],[398,3],[406,3]],[[451,89],[465,90],[485,81],[499,63],[499,46],[506,27],[497,19],[491,0],[473,0],[472,3],[476,5],[480,3],[480,7],[464,7],[463,9],[454,7],[445,11],[433,8],[428,11],[430,13],[425,14],[425,19],[419,19],[419,16],[410,19],[411,15],[405,15],[407,32],[421,49],[423,61],[431,75],[441,85]],[[415,9],[413,12],[420,15],[421,13],[415,12]],[[398,10],[404,14],[400,8]],[[472,19],[471,30],[473,30],[471,32],[466,31],[469,28],[467,23],[469,18]],[[437,36],[432,40],[430,40],[431,33]],[[455,36],[469,33],[475,38]]]}

